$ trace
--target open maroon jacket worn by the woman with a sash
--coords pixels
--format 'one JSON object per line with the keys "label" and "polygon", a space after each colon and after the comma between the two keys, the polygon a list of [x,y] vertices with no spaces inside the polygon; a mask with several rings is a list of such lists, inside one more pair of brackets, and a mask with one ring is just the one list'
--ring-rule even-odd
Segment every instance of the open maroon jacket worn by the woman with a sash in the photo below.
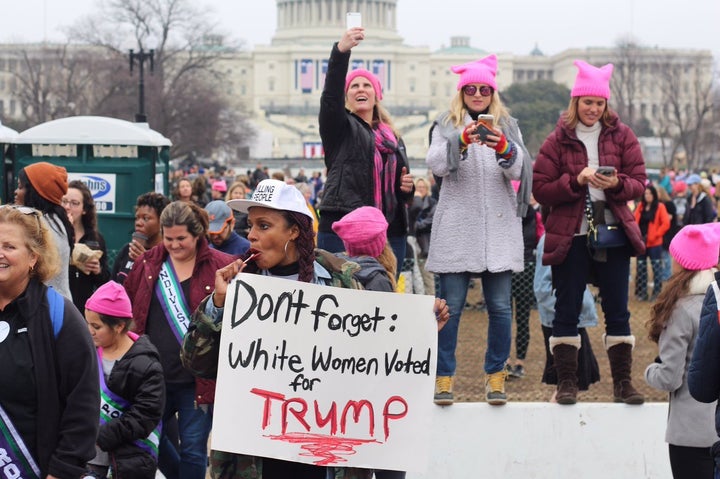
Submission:
{"label": "open maroon jacket worn by the woman with a sash", "polygon": [[[161,244],[140,256],[123,283],[133,305],[133,331],[145,334],[150,311],[150,300],[155,294],[155,282],[168,253]],[[211,249],[205,237],[198,240],[198,252],[192,273],[192,285],[188,309],[195,311],[200,302],[215,289],[215,272],[232,263],[234,258]],[[195,378],[198,404],[208,404],[215,399],[215,381]]]}

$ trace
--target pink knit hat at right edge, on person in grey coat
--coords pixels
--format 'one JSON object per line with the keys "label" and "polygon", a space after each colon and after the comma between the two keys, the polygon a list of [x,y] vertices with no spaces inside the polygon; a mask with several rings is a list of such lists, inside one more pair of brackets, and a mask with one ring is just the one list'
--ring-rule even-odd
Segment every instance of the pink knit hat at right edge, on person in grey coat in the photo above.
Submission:
{"label": "pink knit hat at right edge, on person in grey coat", "polygon": [[718,264],[720,232],[712,223],[687,225],[670,242],[670,254],[680,266],[691,271]]}

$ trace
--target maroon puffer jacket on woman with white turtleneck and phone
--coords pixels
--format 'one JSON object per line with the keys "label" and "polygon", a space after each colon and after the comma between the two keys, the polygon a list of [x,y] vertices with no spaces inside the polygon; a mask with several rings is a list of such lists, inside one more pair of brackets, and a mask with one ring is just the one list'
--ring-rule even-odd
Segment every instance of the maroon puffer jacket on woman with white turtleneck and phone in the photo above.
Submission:
{"label": "maroon puffer jacket on woman with white turtleneck and phone", "polygon": [[[635,253],[642,254],[645,242],[627,202],[640,197],[645,190],[645,161],[630,127],[614,113],[610,123],[609,127],[602,127],[598,139],[600,164],[614,166],[620,182],[616,188],[605,190],[607,206],[622,224]],[[562,263],[573,236],[580,231],[588,189],[578,183],[577,176],[586,166],[585,145],[575,130],[565,125],[563,114],[545,139],[533,167],[533,195],[549,209],[543,264]]]}

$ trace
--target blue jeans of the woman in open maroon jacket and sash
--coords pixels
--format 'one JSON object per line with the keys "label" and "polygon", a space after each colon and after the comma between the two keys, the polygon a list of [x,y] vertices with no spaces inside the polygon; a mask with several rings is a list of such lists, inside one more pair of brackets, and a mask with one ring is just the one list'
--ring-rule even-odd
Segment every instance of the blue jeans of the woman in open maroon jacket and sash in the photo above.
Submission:
{"label": "blue jeans of the woman in open maroon jacket and sash", "polygon": [[180,449],[160,436],[158,466],[167,479],[205,479],[213,406],[195,404],[195,384],[165,383],[163,422],[177,413]]}

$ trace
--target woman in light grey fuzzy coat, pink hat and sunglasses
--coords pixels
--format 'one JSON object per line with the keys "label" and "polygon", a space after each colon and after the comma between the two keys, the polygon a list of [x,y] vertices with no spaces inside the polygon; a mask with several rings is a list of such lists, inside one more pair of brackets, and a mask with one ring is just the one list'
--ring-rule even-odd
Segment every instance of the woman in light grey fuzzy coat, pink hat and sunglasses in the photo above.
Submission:
{"label": "woman in light grey fuzzy coat, pink hat and sunglasses", "polygon": [[[510,181],[529,176],[530,168],[523,168],[529,158],[517,123],[497,92],[496,56],[452,67],[452,71],[460,74],[458,93],[450,110],[436,121],[427,154],[427,164],[442,178],[442,185],[426,268],[439,275],[438,296],[450,308],[450,321],[438,337],[435,403],[453,403],[458,325],[470,278],[479,276],[489,316],[486,399],[502,405],[507,401],[511,277],[523,270],[521,208],[516,211],[518,202]],[[493,115],[484,133],[477,130],[481,114]],[[529,191],[529,180],[521,186],[521,198],[529,196],[523,194]]]}

